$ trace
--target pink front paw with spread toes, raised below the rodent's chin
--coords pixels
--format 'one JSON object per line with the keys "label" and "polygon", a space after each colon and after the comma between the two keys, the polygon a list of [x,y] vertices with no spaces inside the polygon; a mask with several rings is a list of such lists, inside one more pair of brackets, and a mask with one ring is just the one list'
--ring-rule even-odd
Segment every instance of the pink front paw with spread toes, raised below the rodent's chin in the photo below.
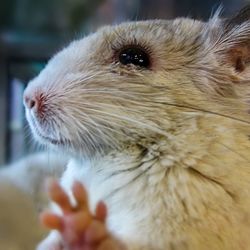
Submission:
{"label": "pink front paw with spread toes, raised below the rodent's chin", "polygon": [[[72,191],[77,202],[76,207],[71,205],[67,194],[58,182],[53,181],[49,185],[50,198],[58,204],[63,212],[62,216],[50,212],[45,212],[41,216],[41,221],[46,227],[60,232],[63,244],[53,246],[55,250],[64,249],[63,247],[68,250],[124,249],[107,230],[106,205],[99,202],[94,214],[91,214],[87,192],[82,184],[75,182]],[[48,249],[54,250],[54,248]],[[39,250],[45,250],[45,248]]]}

